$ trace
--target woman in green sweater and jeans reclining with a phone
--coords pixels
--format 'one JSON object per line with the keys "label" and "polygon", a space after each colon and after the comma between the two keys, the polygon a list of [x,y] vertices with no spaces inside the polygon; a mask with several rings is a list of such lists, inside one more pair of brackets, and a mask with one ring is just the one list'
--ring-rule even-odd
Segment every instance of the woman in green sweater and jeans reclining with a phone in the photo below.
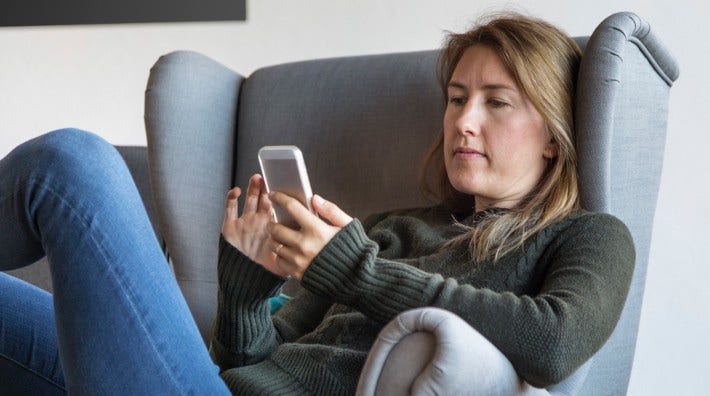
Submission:
{"label": "woman in green sweater and jeans reclining with a phone", "polygon": [[[228,193],[219,375],[120,158],[75,131],[20,146],[0,162],[0,265],[46,252],[56,292],[0,276],[0,373],[72,393],[350,394],[384,323],[437,306],[512,363],[494,382],[564,379],[614,328],[634,262],[623,224],[578,209],[579,49],[511,16],[451,35],[442,54],[447,106],[428,158],[440,205],[360,223],[316,196],[323,221],[258,175],[241,213],[241,191]],[[274,204],[300,229],[273,223]],[[271,317],[287,277],[304,290]]]}

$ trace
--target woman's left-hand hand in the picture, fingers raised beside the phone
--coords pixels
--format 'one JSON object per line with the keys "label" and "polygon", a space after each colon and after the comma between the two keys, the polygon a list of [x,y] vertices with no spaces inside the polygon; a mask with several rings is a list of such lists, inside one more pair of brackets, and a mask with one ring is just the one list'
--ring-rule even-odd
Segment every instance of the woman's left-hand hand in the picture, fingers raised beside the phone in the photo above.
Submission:
{"label": "woman's left-hand hand in the picture, fingers raised beside the phone", "polygon": [[267,230],[267,225],[273,219],[273,206],[266,192],[264,179],[258,174],[249,179],[244,210],[240,216],[238,198],[241,193],[239,187],[227,193],[222,236],[268,271],[278,276],[287,276],[288,274],[279,267],[278,258],[274,253],[280,244],[271,239]]}

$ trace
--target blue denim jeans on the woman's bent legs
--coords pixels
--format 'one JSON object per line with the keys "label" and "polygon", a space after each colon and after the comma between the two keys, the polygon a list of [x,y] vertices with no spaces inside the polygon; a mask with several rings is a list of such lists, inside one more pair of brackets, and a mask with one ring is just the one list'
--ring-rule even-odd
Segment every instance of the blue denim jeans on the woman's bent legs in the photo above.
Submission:
{"label": "blue denim jeans on the woman's bent legs", "polygon": [[0,238],[0,270],[46,255],[54,287],[0,273],[0,394],[229,394],[111,145],[66,129],[2,159]]}

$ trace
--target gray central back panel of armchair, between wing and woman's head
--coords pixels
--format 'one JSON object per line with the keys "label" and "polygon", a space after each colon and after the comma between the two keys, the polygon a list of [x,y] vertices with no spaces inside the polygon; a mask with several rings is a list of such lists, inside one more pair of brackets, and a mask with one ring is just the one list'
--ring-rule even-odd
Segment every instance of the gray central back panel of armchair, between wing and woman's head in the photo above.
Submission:
{"label": "gray central back panel of armchair, between wing and woman's head", "polygon": [[313,191],[361,217],[426,203],[422,155],[441,130],[435,51],[268,67],[244,83],[236,184],[267,144],[301,148]]}

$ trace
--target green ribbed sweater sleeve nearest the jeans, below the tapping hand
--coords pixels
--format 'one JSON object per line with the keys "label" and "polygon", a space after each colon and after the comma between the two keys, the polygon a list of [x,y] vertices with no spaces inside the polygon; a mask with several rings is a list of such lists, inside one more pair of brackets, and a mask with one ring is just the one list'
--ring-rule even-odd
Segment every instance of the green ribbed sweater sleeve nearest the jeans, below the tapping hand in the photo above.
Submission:
{"label": "green ribbed sweater sleeve nearest the jeans, below the tapping hand", "polygon": [[269,298],[284,280],[253,262],[224,238],[218,256],[217,316],[210,354],[221,370],[263,360],[280,342]]}

